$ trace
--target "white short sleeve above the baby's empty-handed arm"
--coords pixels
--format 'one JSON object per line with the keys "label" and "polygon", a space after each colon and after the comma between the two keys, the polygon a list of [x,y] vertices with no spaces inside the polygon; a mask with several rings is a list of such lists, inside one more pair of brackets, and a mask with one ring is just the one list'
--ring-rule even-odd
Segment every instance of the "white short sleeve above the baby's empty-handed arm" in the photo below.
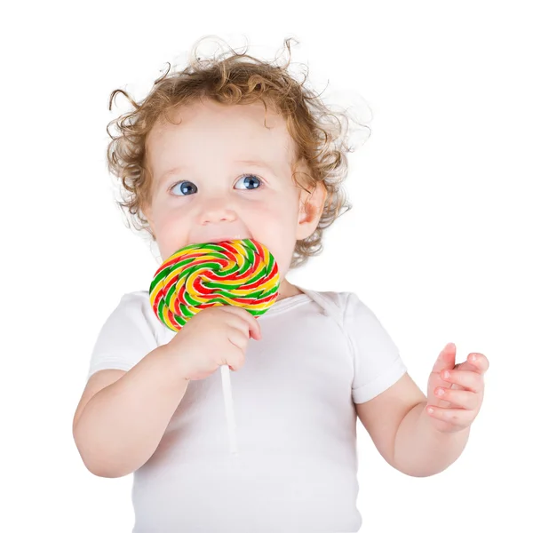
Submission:
{"label": "white short sleeve above the baby's empty-handed arm", "polygon": [[368,402],[393,386],[407,371],[398,348],[376,315],[354,293],[350,293],[344,326],[354,356],[352,397]]}

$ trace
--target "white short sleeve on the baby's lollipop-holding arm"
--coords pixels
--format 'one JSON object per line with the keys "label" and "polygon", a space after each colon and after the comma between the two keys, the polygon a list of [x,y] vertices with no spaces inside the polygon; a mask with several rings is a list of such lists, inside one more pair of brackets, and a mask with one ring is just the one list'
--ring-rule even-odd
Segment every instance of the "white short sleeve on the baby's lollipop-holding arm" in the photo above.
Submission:
{"label": "white short sleeve on the baby's lollipop-holding arm", "polygon": [[[153,315],[153,317],[152,317]],[[87,379],[99,370],[128,371],[157,346],[154,320],[147,294],[124,294],[99,331]]]}

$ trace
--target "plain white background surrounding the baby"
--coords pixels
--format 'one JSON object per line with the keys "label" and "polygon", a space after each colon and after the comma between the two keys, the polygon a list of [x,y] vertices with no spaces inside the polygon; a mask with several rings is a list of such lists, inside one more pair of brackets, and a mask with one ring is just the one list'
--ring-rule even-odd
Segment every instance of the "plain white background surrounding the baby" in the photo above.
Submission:
{"label": "plain white background surrounding the baby", "polygon": [[458,361],[489,357],[481,413],[445,472],[395,471],[359,426],[362,533],[529,528],[529,2],[296,4],[4,8],[0,529],[131,531],[132,476],[89,473],[71,434],[100,327],[157,267],[114,204],[106,125],[129,107],[107,101],[115,88],[143,98],[166,61],[211,34],[248,38],[268,60],[294,36],[293,61],[316,91],[329,81],[327,103],[371,110],[370,139],[349,155],[354,208],[289,280],[355,291],[424,392],[447,342]]}

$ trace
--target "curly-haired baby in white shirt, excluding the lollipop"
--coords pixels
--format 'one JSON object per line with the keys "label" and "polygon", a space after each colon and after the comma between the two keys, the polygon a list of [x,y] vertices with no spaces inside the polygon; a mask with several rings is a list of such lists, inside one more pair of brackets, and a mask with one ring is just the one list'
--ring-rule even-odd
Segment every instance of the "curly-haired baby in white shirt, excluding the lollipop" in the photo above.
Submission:
{"label": "curly-haired baby in white shirt, excluding the lollipop", "polygon": [[[122,205],[163,260],[191,243],[263,243],[279,298],[259,318],[204,309],[175,333],[147,290],[123,295],[91,355],[77,449],[95,475],[134,473],[135,533],[358,531],[356,418],[397,470],[442,472],[465,448],[489,362],[456,364],[445,346],[425,395],[354,292],[287,280],[346,207],[346,149],[324,118],[334,115],[287,66],[193,59],[116,121],[108,161],[129,192]],[[238,457],[227,447],[225,364]]]}

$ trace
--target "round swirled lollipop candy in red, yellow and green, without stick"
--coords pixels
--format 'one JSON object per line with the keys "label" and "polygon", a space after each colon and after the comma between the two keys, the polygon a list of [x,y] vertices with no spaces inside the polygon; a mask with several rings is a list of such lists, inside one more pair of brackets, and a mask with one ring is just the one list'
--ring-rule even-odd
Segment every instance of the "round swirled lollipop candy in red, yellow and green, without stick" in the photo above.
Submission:
{"label": "round swirled lollipop candy in red, yellow and green, without stick", "polygon": [[265,314],[278,297],[274,256],[252,239],[191,244],[166,259],[150,284],[150,305],[165,326],[179,331],[211,306],[239,306]]}

